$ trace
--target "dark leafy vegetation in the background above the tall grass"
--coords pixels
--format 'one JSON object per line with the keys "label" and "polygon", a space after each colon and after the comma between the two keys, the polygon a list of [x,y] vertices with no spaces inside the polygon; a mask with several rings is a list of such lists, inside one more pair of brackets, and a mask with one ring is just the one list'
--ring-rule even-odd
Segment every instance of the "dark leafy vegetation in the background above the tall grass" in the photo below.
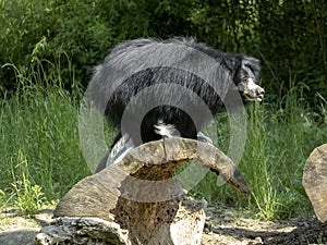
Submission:
{"label": "dark leafy vegetation in the background above the tall grass", "polygon": [[[271,99],[290,81],[306,85],[307,99],[326,98],[327,3],[324,0],[1,0],[0,64],[20,71],[41,61],[65,87],[87,85],[108,48],[125,39],[193,36],[217,49],[262,60],[262,84]],[[56,71],[52,71],[56,70]],[[0,86],[16,87],[12,66]],[[76,84],[74,84],[76,85]]]}

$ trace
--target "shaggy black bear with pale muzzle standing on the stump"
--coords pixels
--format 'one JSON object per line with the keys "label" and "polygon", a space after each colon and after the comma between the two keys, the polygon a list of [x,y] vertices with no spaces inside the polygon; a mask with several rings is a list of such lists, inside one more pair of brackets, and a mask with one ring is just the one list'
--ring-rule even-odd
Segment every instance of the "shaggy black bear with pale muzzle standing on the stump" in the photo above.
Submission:
{"label": "shaggy black bear with pale muzzle standing on the stump", "polygon": [[95,69],[89,96],[119,133],[97,171],[162,136],[211,143],[201,133],[220,108],[262,101],[259,62],[193,38],[117,45]]}

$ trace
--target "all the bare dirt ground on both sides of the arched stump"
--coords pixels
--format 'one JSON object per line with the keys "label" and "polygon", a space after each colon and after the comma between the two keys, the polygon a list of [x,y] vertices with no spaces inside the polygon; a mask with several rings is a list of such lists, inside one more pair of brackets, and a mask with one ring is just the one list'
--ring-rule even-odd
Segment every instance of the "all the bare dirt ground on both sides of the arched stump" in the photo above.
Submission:
{"label": "all the bare dirt ground on both sides of the arched stump", "polygon": [[[27,219],[5,210],[0,215],[0,245],[34,245],[34,236],[52,216],[44,209]],[[202,240],[203,245],[327,245],[327,223],[315,218],[288,221],[258,221],[239,211],[209,208]]]}

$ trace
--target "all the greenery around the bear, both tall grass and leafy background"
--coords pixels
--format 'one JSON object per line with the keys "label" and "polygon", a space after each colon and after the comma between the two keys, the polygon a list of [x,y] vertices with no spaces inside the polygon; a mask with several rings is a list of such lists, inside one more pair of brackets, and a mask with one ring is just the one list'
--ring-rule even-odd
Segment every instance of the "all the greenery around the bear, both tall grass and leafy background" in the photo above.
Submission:
{"label": "all the greenery around the bear, both tall grass and leafy background", "polygon": [[[326,4],[0,0],[0,208],[16,205],[33,213],[89,174],[78,149],[81,87],[110,46],[138,37],[195,36],[218,49],[259,58],[267,96],[247,110],[240,162],[253,194],[217,187],[213,173],[193,194],[249,207],[265,219],[307,212],[302,169],[313,148],[327,139]],[[226,113],[217,117],[217,146],[227,152]]]}

